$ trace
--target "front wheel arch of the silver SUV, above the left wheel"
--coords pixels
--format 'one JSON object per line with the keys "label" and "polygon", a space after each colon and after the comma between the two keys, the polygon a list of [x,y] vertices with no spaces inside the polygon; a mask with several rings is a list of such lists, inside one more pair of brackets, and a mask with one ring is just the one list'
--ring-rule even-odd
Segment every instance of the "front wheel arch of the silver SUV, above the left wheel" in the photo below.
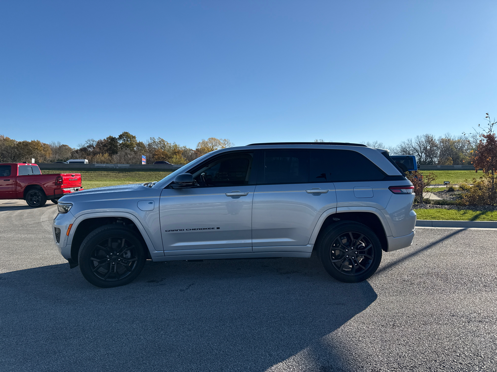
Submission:
{"label": "front wheel arch of the silver SUV, above the left wheel", "polygon": [[[143,228],[140,221],[129,213],[89,213],[79,216],[73,223],[73,228],[68,237],[68,245],[71,245],[71,259],[78,262],[78,253],[84,238],[96,228],[103,225],[124,225],[136,230],[137,236],[141,238],[147,258],[152,259],[151,252],[156,251],[150,237]],[[164,253],[163,253],[164,254]]]}

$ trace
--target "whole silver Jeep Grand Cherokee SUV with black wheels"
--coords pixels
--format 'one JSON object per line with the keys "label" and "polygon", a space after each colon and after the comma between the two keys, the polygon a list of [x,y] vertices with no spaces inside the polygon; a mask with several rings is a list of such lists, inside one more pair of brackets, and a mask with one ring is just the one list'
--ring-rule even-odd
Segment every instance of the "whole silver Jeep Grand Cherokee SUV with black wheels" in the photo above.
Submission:
{"label": "whole silver Jeep Grand Cherokee SUV with black wheels", "polygon": [[254,143],[213,151],[159,182],[59,199],[53,233],[98,287],[145,261],[300,257],[316,250],[343,282],[414,238],[413,185],[387,150],[353,143]]}

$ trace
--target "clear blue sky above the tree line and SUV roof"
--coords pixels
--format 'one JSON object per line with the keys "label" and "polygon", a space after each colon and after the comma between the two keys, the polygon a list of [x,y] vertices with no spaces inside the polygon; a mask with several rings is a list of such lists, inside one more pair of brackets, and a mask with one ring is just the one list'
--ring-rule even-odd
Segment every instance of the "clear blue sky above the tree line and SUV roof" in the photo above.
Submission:
{"label": "clear blue sky above the tree line and SUV roof", "polygon": [[396,144],[497,117],[495,1],[2,1],[0,134]]}

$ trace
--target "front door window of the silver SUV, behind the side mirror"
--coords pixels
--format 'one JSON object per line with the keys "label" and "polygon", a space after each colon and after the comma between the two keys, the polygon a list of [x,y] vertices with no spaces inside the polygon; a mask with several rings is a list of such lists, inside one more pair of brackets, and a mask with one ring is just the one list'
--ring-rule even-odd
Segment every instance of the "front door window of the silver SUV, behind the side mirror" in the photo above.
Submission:
{"label": "front door window of the silver SUV, behind the side mirror", "polygon": [[248,185],[252,158],[252,153],[232,153],[215,158],[193,170],[193,178],[201,187]]}

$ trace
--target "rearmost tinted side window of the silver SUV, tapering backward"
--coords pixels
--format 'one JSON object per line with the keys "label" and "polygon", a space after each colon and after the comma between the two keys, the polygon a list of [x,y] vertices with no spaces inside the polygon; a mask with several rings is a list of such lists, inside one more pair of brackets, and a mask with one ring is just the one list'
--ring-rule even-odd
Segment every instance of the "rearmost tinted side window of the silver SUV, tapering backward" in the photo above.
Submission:
{"label": "rearmost tinted side window of the silver SUV, tapering backward", "polygon": [[[313,175],[325,172],[328,182],[381,181],[385,175],[368,158],[351,150],[313,150]],[[319,182],[319,181],[314,181]]]}

